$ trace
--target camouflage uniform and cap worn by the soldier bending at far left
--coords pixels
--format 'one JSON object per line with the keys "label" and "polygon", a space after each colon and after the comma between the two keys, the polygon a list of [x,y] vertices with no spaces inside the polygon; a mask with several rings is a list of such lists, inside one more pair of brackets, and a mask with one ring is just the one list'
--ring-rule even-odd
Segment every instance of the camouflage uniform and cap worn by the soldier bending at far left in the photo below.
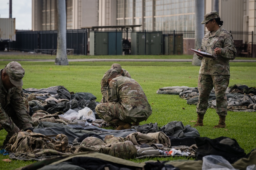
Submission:
{"label": "camouflage uniform and cap worn by the soldier bending at far left", "polygon": [[[22,69],[20,71],[23,72],[23,75],[19,76],[23,77],[25,71],[20,64],[17,64],[17,62],[11,63],[13,66],[16,67],[17,65],[17,67]],[[12,72],[13,68],[8,68],[9,64],[6,67],[9,71],[10,79],[12,78],[11,74],[20,74],[15,71]],[[9,138],[19,130],[32,128],[32,119],[29,116],[29,104],[24,97],[22,86],[15,86],[7,90],[2,82],[3,69],[1,69],[0,72],[0,124],[8,132],[5,139],[5,142],[8,142]],[[15,85],[14,82],[12,82],[12,84]],[[23,82],[21,84],[23,84]]]}

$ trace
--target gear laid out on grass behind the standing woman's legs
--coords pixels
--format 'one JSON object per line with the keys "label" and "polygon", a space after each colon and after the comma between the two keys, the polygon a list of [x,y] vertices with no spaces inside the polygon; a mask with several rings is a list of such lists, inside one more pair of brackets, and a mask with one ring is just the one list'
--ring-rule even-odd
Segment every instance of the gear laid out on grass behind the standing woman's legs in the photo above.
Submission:
{"label": "gear laid out on grass behind the standing woman's legs", "polygon": [[[162,87],[156,91],[157,94],[179,95],[187,100],[187,104],[197,105],[199,92],[197,87],[171,86]],[[228,111],[256,112],[256,88],[246,85],[235,84],[227,88]],[[216,108],[216,97],[212,89],[208,107]]]}

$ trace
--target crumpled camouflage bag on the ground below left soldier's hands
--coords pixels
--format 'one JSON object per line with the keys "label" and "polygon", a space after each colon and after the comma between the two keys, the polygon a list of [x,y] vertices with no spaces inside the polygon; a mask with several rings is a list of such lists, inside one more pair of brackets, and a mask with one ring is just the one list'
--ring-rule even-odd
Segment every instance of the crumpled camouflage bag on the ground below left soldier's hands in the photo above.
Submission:
{"label": "crumpled camouflage bag on the ground below left soldier's hands", "polygon": [[10,138],[5,149],[14,152],[17,157],[23,153],[32,153],[35,149],[52,149],[60,152],[66,151],[68,148],[68,137],[59,134],[53,139],[51,136],[33,132],[18,132]]}

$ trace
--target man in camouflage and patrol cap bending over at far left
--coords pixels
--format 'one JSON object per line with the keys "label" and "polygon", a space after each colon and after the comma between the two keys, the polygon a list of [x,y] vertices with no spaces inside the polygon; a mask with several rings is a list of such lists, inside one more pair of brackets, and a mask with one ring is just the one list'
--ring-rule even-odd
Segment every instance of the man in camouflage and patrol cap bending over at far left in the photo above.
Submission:
{"label": "man in camouflage and patrol cap bending over at far left", "polygon": [[20,63],[12,61],[0,72],[0,125],[8,133],[3,149],[15,133],[21,130],[33,132],[33,127],[29,104],[22,90],[25,70]]}

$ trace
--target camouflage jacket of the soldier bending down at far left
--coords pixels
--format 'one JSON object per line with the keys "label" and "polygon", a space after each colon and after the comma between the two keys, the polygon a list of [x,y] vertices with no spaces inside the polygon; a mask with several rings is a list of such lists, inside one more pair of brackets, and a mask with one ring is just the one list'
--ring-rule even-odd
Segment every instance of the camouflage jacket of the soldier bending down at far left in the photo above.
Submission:
{"label": "camouflage jacket of the soldier bending down at far left", "polygon": [[[0,70],[0,73],[2,70]],[[0,124],[8,133],[14,134],[19,131],[19,128],[4,111],[7,107],[14,109],[18,119],[23,123],[24,129],[32,127],[32,119],[26,108],[22,86],[6,90],[0,76]]]}

